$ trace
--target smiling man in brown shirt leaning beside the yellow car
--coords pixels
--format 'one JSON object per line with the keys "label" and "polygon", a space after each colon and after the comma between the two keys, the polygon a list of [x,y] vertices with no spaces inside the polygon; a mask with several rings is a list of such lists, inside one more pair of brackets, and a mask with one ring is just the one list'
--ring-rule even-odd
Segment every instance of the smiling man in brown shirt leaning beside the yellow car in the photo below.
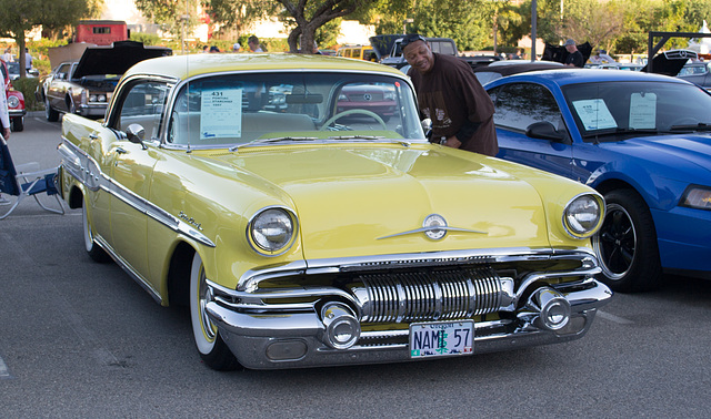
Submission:
{"label": "smiling man in brown shirt leaning beside the yellow car", "polygon": [[493,103],[467,62],[433,53],[427,40],[408,34],[402,53],[418,94],[420,113],[432,120],[431,142],[497,155]]}

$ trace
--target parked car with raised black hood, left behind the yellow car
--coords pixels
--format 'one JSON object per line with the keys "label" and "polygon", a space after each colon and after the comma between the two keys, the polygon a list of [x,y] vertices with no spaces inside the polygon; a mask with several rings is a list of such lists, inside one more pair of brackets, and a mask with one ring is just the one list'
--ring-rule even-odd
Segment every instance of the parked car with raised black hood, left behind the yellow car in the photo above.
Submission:
{"label": "parked car with raised black hood, left behind the yellow car", "polygon": [[172,50],[168,48],[143,47],[134,41],[87,48],[78,62],[57,65],[41,80],[34,95],[44,103],[48,121],[58,121],[62,113],[103,117],[126,70],[142,60],[170,54]]}

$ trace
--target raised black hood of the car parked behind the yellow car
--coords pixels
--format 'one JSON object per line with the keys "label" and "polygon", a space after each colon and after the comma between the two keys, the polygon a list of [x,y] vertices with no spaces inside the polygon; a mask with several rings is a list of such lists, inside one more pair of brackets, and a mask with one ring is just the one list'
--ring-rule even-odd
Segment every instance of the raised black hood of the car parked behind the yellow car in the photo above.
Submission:
{"label": "raised black hood of the car parked behind the yellow car", "polygon": [[81,55],[72,78],[123,74],[138,62],[166,55],[172,55],[170,48],[143,47],[143,43],[136,41],[113,42],[111,47],[90,47]]}

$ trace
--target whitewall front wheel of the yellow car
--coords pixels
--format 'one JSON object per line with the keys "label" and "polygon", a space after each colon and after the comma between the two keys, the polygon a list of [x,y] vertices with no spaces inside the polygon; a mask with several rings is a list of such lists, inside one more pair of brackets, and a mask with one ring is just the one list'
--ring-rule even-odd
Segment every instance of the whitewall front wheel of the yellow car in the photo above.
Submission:
{"label": "whitewall front wheel of the yellow car", "polygon": [[239,367],[239,362],[208,316],[206,306],[211,299],[202,258],[196,252],[190,267],[190,321],[196,346],[208,367],[218,371],[232,370]]}

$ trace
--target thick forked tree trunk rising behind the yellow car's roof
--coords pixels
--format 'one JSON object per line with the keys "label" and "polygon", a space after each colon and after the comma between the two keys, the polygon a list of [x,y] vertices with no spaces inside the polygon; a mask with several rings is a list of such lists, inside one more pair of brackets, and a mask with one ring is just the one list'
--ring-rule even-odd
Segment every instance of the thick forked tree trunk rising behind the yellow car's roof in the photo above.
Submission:
{"label": "thick forked tree trunk rising behind the yellow car's roof", "polygon": [[[277,0],[287,9],[294,28],[289,33],[290,52],[299,52],[301,45],[312,45],[317,29],[333,19],[353,13],[358,9],[370,8],[377,0]],[[311,53],[310,48],[302,49]]]}

